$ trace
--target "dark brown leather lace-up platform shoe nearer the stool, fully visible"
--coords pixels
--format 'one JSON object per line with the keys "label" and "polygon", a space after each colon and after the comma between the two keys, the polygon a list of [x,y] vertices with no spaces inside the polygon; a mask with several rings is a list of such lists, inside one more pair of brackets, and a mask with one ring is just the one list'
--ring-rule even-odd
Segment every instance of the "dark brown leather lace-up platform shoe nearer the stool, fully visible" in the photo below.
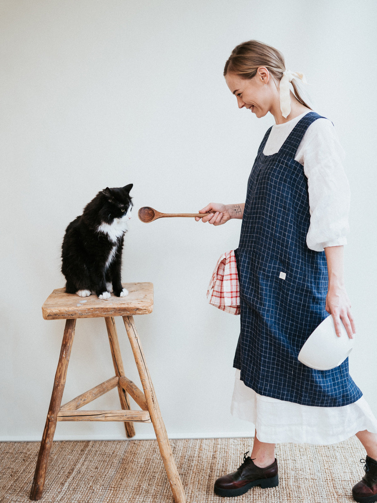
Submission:
{"label": "dark brown leather lace-up platform shoe nearer the stool, fully visible", "polygon": [[[233,473],[223,475],[215,482],[215,493],[219,496],[239,496],[247,492],[251,487],[260,485],[260,487],[276,487],[279,483],[277,475],[277,461],[259,468],[253,463],[250,456],[243,455],[242,465]],[[255,458],[254,458],[255,459]]]}

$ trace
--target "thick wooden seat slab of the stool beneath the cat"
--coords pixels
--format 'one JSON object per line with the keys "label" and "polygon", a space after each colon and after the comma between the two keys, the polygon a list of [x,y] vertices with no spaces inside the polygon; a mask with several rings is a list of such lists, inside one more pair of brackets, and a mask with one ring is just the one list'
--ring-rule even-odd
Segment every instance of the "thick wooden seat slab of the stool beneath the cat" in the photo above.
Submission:
{"label": "thick wooden seat slab of the stool beneath the cat", "polygon": [[79,297],[57,288],[42,306],[44,319],[105,318],[107,316],[130,316],[149,314],[153,311],[153,283],[122,283],[129,294],[109,299],[99,299],[92,294]]}

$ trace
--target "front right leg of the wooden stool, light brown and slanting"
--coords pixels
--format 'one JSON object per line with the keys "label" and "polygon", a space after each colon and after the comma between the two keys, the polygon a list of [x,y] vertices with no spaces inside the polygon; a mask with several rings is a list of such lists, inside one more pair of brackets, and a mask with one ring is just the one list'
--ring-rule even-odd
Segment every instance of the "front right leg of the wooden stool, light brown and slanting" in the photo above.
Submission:
{"label": "front right leg of the wooden stool, light brown and slanting", "polygon": [[127,335],[131,343],[132,352],[135,357],[137,369],[145,398],[147,400],[150,418],[153,428],[156,433],[158,447],[160,449],[163,464],[165,466],[167,478],[169,480],[171,492],[173,493],[175,503],[185,503],[186,496],[184,494],[182,481],[180,479],[174,458],[171,451],[169,439],[167,437],[164,422],[161,417],[160,407],[158,406],[156,394],[153,388],[152,380],[149,375],[149,370],[145,361],[145,356],[141,342],[134,324],[133,316],[123,316],[124,325],[127,330]]}

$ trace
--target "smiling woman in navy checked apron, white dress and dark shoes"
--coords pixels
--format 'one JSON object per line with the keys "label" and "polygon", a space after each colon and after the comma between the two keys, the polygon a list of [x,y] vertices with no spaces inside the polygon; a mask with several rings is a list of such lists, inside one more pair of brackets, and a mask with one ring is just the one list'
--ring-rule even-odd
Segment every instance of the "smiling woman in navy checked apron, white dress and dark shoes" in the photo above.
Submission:
{"label": "smiling woman in navy checked apron, white dress and dark shoes", "polygon": [[297,359],[327,313],[339,337],[340,323],[349,338],[355,333],[343,280],[349,185],[342,147],[332,122],[308,106],[303,75],[286,70],[277,49],[256,40],[238,45],[224,76],[239,108],[258,118],[270,112],[275,125],[258,149],[246,202],[200,210],[210,212],[202,221],[213,225],[242,219],[232,413],[256,426],[251,456],[218,478],[215,492],[276,486],[277,442],[325,445],[356,434],[366,450],[365,475],[352,494],[377,501],[377,420],[349,375],[348,358],[326,371]]}

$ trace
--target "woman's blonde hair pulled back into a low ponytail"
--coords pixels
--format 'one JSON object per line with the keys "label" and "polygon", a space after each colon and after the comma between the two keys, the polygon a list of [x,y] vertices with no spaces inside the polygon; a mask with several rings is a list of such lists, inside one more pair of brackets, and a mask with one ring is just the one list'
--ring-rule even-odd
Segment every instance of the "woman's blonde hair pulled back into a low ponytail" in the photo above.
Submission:
{"label": "woman's blonde hair pulled back into a low ponytail", "polygon": [[[270,74],[280,81],[283,72],[286,70],[286,61],[281,52],[274,47],[258,40],[248,40],[233,49],[224,66],[224,77],[228,73],[234,73],[240,78],[251,79],[256,75],[259,66],[265,66]],[[309,97],[304,99],[303,90],[299,90],[294,80],[291,81],[291,84],[298,101],[313,110],[306,103],[306,101],[309,101]]]}

